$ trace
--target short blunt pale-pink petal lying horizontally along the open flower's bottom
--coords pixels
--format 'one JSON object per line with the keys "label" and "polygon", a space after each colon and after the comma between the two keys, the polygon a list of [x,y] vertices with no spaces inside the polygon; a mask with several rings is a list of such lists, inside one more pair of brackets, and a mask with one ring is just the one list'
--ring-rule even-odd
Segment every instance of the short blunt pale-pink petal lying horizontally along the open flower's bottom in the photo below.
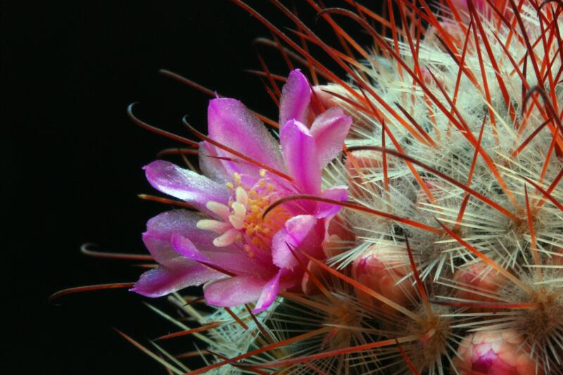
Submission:
{"label": "short blunt pale-pink petal lying horizontally along the open flower's bottom", "polygon": [[231,307],[258,300],[267,280],[235,276],[215,281],[203,287],[203,296],[209,305]]}

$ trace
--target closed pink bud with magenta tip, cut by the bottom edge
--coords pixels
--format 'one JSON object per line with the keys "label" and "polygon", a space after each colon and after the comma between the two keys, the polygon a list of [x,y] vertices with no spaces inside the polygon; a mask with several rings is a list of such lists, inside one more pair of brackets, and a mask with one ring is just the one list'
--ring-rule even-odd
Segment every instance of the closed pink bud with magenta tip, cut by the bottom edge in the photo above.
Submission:
{"label": "closed pink bud with magenta tip, cut by the bottom edge", "polygon": [[454,365],[460,375],[543,375],[524,336],[514,330],[481,331],[464,338]]}

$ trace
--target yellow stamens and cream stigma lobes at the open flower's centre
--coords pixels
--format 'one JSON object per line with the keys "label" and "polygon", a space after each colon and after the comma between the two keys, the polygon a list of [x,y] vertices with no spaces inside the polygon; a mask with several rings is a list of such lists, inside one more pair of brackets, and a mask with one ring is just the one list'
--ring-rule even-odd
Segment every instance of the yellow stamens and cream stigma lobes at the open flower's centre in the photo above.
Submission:
{"label": "yellow stamens and cream stigma lobes at the open flower's centre", "polygon": [[205,205],[223,221],[200,220],[197,227],[220,234],[213,240],[215,246],[229,246],[236,242],[253,258],[257,251],[270,251],[272,236],[291,214],[277,206],[267,217],[262,217],[264,211],[281,198],[281,191],[266,176],[265,170],[260,170],[260,179],[253,186],[245,186],[238,173],[234,173],[233,177],[234,184],[227,183],[233,191],[229,205],[215,201]]}

